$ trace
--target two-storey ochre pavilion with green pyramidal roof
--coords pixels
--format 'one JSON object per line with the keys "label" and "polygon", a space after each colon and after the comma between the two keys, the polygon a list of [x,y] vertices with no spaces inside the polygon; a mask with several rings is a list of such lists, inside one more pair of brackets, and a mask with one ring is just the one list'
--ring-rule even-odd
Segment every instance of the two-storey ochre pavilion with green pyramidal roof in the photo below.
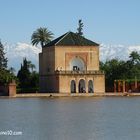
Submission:
{"label": "two-storey ochre pavilion with green pyramidal roof", "polygon": [[45,93],[104,93],[99,44],[73,32],[51,41],[39,54],[39,81]]}

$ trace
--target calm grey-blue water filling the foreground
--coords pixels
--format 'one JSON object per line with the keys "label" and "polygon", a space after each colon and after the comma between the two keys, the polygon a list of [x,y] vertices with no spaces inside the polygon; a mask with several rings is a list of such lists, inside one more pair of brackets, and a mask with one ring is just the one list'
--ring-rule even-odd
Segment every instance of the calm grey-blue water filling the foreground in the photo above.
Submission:
{"label": "calm grey-blue water filling the foreground", "polygon": [[140,140],[140,97],[0,99],[0,140]]}

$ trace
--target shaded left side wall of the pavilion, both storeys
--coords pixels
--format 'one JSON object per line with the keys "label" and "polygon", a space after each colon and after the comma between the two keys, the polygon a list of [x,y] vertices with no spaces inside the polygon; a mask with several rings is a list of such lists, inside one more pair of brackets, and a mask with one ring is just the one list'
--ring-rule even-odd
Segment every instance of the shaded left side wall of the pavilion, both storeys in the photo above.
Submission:
{"label": "shaded left side wall of the pavilion, both storeys", "polygon": [[46,76],[54,72],[55,53],[54,47],[45,47],[39,54],[39,91],[50,92],[52,89],[53,78]]}

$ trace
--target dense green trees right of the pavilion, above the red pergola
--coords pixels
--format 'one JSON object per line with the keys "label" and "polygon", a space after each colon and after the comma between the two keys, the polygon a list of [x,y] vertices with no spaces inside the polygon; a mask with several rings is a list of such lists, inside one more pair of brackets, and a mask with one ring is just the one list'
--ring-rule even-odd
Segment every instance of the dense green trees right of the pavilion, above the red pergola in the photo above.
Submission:
{"label": "dense green trees right of the pavilion, above the red pergola", "polygon": [[118,59],[107,60],[105,63],[100,62],[100,69],[105,72],[106,91],[113,90],[114,80],[140,79],[140,54],[133,51],[129,60],[122,61]]}

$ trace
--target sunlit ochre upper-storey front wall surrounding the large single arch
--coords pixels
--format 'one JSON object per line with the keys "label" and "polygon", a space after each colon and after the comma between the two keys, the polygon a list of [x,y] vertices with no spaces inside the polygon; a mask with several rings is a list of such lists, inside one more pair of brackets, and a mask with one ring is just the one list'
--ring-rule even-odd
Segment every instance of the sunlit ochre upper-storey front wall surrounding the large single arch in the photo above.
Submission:
{"label": "sunlit ochre upper-storey front wall surrounding the large single arch", "polygon": [[75,56],[83,59],[87,70],[99,70],[99,47],[96,46],[55,47],[55,70],[70,70],[70,61]]}

